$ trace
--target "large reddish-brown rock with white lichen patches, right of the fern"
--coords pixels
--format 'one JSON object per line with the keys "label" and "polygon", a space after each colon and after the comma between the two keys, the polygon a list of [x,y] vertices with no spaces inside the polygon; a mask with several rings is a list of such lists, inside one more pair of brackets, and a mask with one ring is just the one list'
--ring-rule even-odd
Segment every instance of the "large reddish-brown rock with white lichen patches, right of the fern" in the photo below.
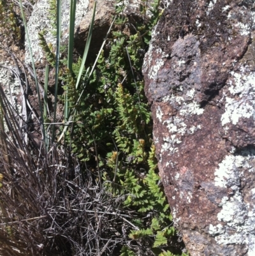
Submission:
{"label": "large reddish-brown rock with white lichen patches, right of the fern", "polygon": [[191,255],[255,255],[254,10],[173,0],[145,56],[160,175]]}

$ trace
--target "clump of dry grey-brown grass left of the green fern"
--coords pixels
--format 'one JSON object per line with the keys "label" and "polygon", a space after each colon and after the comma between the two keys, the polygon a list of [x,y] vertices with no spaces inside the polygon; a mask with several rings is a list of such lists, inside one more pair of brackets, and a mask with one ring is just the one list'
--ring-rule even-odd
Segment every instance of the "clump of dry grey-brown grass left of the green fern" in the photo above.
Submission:
{"label": "clump of dry grey-brown grass left of the green fern", "polygon": [[130,218],[121,200],[99,188],[95,174],[81,172],[64,147],[45,154],[32,137],[26,144],[1,87],[0,93],[1,124],[11,131],[0,133],[0,255],[113,255],[124,243],[116,233]]}

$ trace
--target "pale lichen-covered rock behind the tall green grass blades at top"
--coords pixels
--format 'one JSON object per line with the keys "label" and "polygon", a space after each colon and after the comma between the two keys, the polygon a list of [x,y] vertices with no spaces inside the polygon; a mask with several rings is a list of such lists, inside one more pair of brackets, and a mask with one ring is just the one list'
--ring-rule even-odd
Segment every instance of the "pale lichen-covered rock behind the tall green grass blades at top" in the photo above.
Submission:
{"label": "pale lichen-covered rock behind the tall green grass blades at top", "polygon": [[[148,4],[151,4],[149,1]],[[122,3],[119,3],[122,4]],[[135,22],[137,19],[142,19],[139,7],[140,1],[127,0],[124,2],[125,8],[123,14],[129,18],[129,21]],[[61,30],[62,30],[62,44],[66,44],[68,41],[68,28],[69,28],[69,8],[70,1],[62,0],[62,15],[61,15]],[[94,1],[92,0],[79,0],[77,1],[76,15],[75,15],[75,47],[78,50],[85,48],[85,41],[87,40],[87,34],[89,32],[89,25],[92,19],[92,13],[94,8]],[[103,39],[110,27],[115,14],[115,2],[110,0],[98,0],[96,7],[96,17],[94,22],[93,37],[91,43],[91,50],[99,50]],[[53,28],[50,22],[50,0],[39,0],[34,4],[33,13],[27,22],[27,28],[29,32],[29,40],[31,42],[31,48],[33,52],[34,61],[37,63],[43,63],[44,54],[39,45],[38,33],[45,30],[45,40],[47,43],[51,43],[53,46],[56,44],[56,38],[52,34]],[[131,28],[132,29],[132,28]],[[27,38],[26,38],[27,39]],[[27,46],[27,40],[25,41],[26,63],[31,63],[31,57]],[[98,53],[98,52],[97,52]]]}

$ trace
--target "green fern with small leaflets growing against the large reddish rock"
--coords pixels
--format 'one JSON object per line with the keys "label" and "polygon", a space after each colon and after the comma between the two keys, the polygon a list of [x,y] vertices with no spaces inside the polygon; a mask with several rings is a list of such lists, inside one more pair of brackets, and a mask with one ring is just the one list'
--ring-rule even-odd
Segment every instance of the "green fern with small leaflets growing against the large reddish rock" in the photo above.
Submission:
{"label": "green fern with small leaflets growing against the large reddish rock", "polygon": [[[147,6],[142,5],[141,10],[145,11]],[[127,236],[119,250],[120,256],[133,256],[144,248],[150,255],[170,255],[167,253],[171,250],[171,237],[175,235],[170,207],[157,174],[140,54],[147,49],[150,31],[159,17],[158,5],[156,1],[154,10],[150,11],[151,18],[147,23],[138,24],[135,34],[112,33],[110,52],[99,56],[80,104],[71,104],[77,115],[66,137],[86,169],[91,172],[99,169],[106,196],[118,200],[120,209],[133,216],[126,222],[128,225],[122,225],[123,234]],[[122,10],[119,4],[116,24],[124,28],[129,24],[121,15]],[[71,102],[76,102],[80,94],[73,85],[79,63],[73,65],[73,75],[62,69],[61,79],[68,86]]]}

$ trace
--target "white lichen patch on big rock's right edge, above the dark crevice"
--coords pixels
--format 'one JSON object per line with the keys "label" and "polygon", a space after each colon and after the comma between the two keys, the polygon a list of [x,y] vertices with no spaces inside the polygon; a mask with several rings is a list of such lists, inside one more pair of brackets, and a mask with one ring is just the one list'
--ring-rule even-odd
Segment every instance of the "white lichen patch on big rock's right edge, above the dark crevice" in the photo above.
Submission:
{"label": "white lichen patch on big rock's right edge, above the dark crevice", "polygon": [[255,117],[255,73],[245,75],[244,67],[240,68],[240,73],[231,72],[228,90],[235,97],[223,96],[226,103],[225,112],[221,116],[222,126],[237,124],[241,117]]}

